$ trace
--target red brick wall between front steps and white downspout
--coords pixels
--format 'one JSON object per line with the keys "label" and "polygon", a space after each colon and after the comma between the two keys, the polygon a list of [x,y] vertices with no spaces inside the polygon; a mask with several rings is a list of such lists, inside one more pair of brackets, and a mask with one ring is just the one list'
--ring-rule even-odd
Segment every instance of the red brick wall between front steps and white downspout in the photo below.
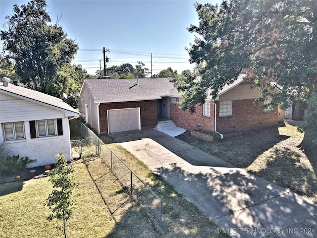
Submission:
{"label": "red brick wall between front steps and white downspout", "polygon": [[213,131],[214,106],[211,104],[210,117],[205,117],[203,116],[202,106],[196,105],[196,114],[191,115],[189,110],[180,110],[178,104],[170,104],[170,119],[172,119],[178,127],[186,130],[201,129]]}

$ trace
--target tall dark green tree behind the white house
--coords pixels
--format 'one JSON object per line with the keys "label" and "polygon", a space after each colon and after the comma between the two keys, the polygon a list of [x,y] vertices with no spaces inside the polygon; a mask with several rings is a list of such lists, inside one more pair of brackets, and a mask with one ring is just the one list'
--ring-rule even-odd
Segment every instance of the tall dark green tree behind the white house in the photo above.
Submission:
{"label": "tall dark green tree behind the white house", "polygon": [[14,5],[13,15],[6,16],[6,30],[1,30],[3,55],[13,60],[14,70],[28,87],[52,92],[57,72],[71,60],[78,44],[57,23],[49,24],[46,0],[31,0]]}

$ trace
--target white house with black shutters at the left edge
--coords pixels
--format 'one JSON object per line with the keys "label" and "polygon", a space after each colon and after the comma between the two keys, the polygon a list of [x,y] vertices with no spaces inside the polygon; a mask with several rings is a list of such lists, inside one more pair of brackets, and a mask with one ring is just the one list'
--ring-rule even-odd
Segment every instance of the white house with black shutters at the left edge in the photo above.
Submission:
{"label": "white house with black shutters at the left edge", "polygon": [[69,119],[79,112],[53,96],[6,85],[0,85],[0,143],[9,154],[33,160],[29,168],[53,164],[58,153],[70,160]]}

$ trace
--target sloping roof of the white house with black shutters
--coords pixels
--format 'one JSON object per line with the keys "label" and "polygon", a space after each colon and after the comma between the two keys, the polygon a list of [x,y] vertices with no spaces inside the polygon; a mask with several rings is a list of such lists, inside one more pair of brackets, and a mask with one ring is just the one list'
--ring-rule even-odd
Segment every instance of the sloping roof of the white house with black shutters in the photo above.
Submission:
{"label": "sloping roof of the white house with black shutters", "polygon": [[[50,106],[55,109],[60,109],[61,111],[71,112],[73,116],[79,115],[79,112],[69,106],[67,103],[64,103],[61,99],[50,96],[45,93],[41,93],[35,90],[28,88],[15,86],[14,84],[9,83],[8,87],[0,85],[0,92],[8,94],[17,98],[26,99],[32,102],[37,102],[42,105]],[[73,114],[75,113],[75,114]]]}

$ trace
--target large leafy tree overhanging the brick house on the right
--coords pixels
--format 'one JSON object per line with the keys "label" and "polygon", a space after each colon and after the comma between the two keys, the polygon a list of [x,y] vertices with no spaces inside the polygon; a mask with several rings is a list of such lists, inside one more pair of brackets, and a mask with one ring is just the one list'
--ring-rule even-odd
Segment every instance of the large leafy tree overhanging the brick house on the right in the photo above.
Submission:
{"label": "large leafy tree overhanging the brick house on the right", "polygon": [[[241,73],[246,73],[245,80],[253,81],[262,91],[256,103],[271,98],[268,106],[283,103],[285,108],[288,99],[304,103],[310,100],[317,92],[316,6],[314,0],[196,3],[200,23],[191,25],[188,31],[198,36],[187,50],[190,61],[200,66],[201,80],[192,75],[176,77],[175,85],[186,95],[183,107],[204,103],[211,88],[215,98]],[[271,87],[272,82],[279,90]],[[312,133],[304,136],[307,152],[314,149],[305,143]]]}

